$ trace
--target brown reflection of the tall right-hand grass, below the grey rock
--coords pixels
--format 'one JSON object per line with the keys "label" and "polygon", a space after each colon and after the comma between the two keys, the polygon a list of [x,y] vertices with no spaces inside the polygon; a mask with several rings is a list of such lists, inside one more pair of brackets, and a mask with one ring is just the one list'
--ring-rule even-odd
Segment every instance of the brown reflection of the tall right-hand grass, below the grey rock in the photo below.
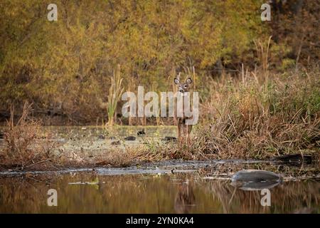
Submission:
{"label": "brown reflection of the tall right-hand grass, below the grey rock", "polygon": [[293,213],[302,207],[319,213],[320,183],[308,180],[284,182],[270,189],[271,207],[262,207],[260,190],[247,191],[226,182],[210,183],[208,192],[218,197],[223,213]]}

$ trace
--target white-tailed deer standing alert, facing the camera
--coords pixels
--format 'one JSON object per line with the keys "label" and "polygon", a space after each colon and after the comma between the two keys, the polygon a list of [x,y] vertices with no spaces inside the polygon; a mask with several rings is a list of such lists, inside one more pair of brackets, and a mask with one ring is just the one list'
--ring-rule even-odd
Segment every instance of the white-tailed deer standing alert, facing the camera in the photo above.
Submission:
{"label": "white-tailed deer standing alert, facing the camera", "polygon": [[[180,73],[176,78],[174,78],[174,83],[176,84],[178,88],[178,95],[184,95],[187,92],[190,93],[191,90],[191,84],[192,84],[192,79],[188,77],[185,82],[180,82]],[[177,105],[176,105],[177,107]],[[184,103],[183,103],[183,116],[178,116],[178,142],[182,142],[183,135],[185,135],[186,142],[189,144],[190,143],[190,133],[192,130],[192,125],[187,125],[186,120],[190,119],[190,117],[187,117],[184,113]],[[182,134],[182,135],[181,135]]]}

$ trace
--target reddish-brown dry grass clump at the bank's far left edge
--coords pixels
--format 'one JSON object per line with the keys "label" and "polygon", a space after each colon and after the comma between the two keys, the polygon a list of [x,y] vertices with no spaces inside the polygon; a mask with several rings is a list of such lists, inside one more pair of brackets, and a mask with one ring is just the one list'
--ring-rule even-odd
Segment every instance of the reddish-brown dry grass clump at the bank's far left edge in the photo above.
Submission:
{"label": "reddish-brown dry grass clump at the bank's far left edge", "polygon": [[54,143],[43,135],[41,123],[30,118],[32,105],[25,103],[21,117],[15,123],[14,108],[4,132],[4,150],[0,152],[1,167],[24,170],[34,165],[48,165],[53,156]]}

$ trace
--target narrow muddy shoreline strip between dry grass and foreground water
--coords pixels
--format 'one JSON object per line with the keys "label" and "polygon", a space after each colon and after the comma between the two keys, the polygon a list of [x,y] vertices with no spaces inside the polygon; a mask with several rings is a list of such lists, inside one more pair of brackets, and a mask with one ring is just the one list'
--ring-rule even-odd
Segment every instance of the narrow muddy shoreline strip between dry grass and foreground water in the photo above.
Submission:
{"label": "narrow muddy shoreline strip between dry grass and foreground water", "polygon": [[[60,167],[33,167],[31,169],[19,170],[13,168],[1,168],[0,177],[11,177],[19,175],[64,175],[73,172],[97,172],[99,170],[107,170],[111,173],[108,175],[130,175],[130,174],[159,174],[159,173],[174,173],[183,172],[183,170],[193,170],[198,172],[201,169],[214,168],[220,170],[227,169],[236,170],[237,167],[290,167],[293,170],[304,167],[316,170],[318,177],[320,177],[320,167],[317,165],[319,160],[313,160],[311,163],[305,162],[281,162],[279,160],[243,160],[243,159],[227,159],[227,160],[160,160],[160,161],[142,161],[132,162],[130,165],[62,165]],[[112,170],[116,172],[112,172]],[[130,172],[130,170],[132,172]],[[127,172],[129,171],[129,172]]]}

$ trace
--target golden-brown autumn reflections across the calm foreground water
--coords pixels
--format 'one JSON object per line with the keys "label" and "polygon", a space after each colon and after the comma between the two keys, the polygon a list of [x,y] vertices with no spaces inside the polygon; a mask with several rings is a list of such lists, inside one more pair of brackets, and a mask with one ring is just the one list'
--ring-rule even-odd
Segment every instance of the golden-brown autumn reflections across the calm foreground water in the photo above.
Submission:
{"label": "golden-brown autumn reflections across the calm foreground water", "polygon": [[[58,207],[47,206],[51,188]],[[319,213],[319,189],[317,180],[283,182],[270,189],[271,207],[262,207],[260,191],[191,173],[0,177],[0,213]]]}

